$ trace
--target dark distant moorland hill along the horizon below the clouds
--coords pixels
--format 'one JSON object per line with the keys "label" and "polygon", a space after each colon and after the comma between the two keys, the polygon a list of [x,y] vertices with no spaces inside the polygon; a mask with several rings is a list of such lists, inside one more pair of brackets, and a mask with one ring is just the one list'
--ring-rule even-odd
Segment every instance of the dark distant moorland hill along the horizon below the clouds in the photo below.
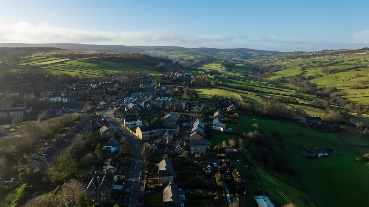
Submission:
{"label": "dark distant moorland hill along the horizon below the clouds", "polygon": [[[125,46],[125,45],[86,45],[75,43],[0,43],[0,47],[53,47],[68,50],[97,51],[107,53],[145,53],[152,56],[168,57],[171,60],[180,60],[183,56],[194,58],[212,56],[220,59],[246,60],[254,57],[269,57],[284,52],[255,50],[247,48],[217,49],[217,48],[184,48],[176,46]],[[185,58],[186,59],[186,58]],[[187,58],[188,59],[188,58]]]}

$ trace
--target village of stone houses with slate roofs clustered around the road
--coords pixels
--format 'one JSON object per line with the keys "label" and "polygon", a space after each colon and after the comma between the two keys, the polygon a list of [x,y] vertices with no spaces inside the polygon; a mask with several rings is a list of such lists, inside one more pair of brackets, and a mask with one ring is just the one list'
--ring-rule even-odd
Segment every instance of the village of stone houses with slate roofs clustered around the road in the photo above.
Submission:
{"label": "village of stone houses with slate roofs clustered around the road", "polygon": [[[74,157],[94,151],[100,160],[89,162],[91,166],[77,166],[78,174],[74,175],[85,183],[92,203],[183,207],[200,201],[236,206],[242,199],[240,195],[254,196],[259,206],[271,203],[263,191],[246,195],[243,173],[247,172],[235,166],[241,164],[244,168],[249,163],[239,146],[242,140],[228,138],[237,133],[232,127],[239,125],[229,119],[240,113],[233,98],[199,98],[185,87],[194,80],[180,72],[168,72],[159,78],[134,74],[134,83],[115,81],[120,76],[106,75],[100,83],[46,84],[45,88],[30,88],[21,80],[7,84],[7,97],[37,94],[33,99],[44,104],[35,109],[26,103],[2,101],[3,122],[14,123],[15,117],[26,122],[70,117],[65,130],[58,129],[55,138],[36,138],[33,145],[42,150],[25,156],[29,173],[42,173],[42,182],[48,183],[49,166],[66,149]],[[55,80],[55,76],[49,76],[47,83]],[[22,122],[15,125],[21,126]],[[321,119],[302,117],[300,123],[321,124]],[[211,140],[214,134],[222,140]],[[82,151],[74,146],[78,135],[85,136],[84,143],[92,147]],[[13,177],[8,184],[19,182],[17,176]]]}

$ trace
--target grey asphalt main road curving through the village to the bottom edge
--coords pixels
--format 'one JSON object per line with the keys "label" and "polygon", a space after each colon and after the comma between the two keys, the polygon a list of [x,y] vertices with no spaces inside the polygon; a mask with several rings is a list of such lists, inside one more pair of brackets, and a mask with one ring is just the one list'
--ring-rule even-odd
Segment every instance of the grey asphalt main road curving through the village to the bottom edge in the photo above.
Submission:
{"label": "grey asphalt main road curving through the village to the bottom edge", "polygon": [[[108,115],[106,111],[98,112],[101,116],[108,117],[106,121],[109,126],[115,130],[115,132],[119,135],[119,137],[125,138],[127,143],[131,146],[132,149],[132,160],[131,166],[129,167],[125,180],[128,179],[128,184],[125,188],[129,188],[131,191],[130,199],[127,206],[136,207],[141,206],[141,203],[137,202],[137,196],[141,196],[144,193],[144,180],[139,179],[139,172],[144,171],[144,159],[140,153],[142,141],[135,138],[132,134],[130,134],[127,130],[124,129],[121,122],[114,119],[114,117]],[[120,206],[123,206],[125,192],[122,192],[121,203]]]}

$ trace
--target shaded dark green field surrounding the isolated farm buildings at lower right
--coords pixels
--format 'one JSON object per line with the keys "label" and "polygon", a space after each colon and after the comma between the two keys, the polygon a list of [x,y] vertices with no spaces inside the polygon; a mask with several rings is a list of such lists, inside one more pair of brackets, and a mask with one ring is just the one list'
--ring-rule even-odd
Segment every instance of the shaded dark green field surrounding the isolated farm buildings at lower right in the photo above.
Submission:
{"label": "shaded dark green field surrounding the isolated farm buildings at lower right", "polygon": [[[247,117],[240,117],[240,120],[241,131],[246,133],[252,130],[251,124],[254,123],[270,131],[275,129],[280,131],[284,137],[284,145],[288,147],[290,166],[295,169],[301,186],[308,190],[318,206],[360,206],[369,203],[369,197],[365,196],[369,190],[369,186],[366,185],[369,182],[369,163],[354,162],[355,157],[369,151],[369,139],[359,134],[353,127],[346,126],[344,133],[347,135],[341,136],[321,133],[310,126],[290,122]],[[343,153],[337,157],[308,159],[299,153],[301,150],[316,147],[328,147],[339,151],[341,148],[339,140],[344,141],[345,145],[342,147]],[[359,154],[355,154],[352,150]],[[352,179],[354,176],[355,179]],[[273,197],[281,199],[277,192]]]}

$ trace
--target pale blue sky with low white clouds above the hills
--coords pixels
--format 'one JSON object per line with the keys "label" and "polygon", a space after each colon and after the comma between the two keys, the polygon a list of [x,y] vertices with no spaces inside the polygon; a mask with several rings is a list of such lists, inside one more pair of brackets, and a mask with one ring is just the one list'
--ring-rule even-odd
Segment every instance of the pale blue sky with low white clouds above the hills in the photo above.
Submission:
{"label": "pale blue sky with low white clouds above the hills", "polygon": [[369,1],[4,1],[0,43],[251,48],[369,47]]}

